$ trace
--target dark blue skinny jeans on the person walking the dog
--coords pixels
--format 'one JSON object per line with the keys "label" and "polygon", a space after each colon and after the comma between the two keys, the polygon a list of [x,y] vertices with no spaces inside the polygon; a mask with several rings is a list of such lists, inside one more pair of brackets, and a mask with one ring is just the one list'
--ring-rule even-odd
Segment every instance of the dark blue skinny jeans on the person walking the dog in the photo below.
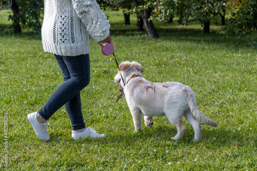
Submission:
{"label": "dark blue skinny jeans on the person walking the dog", "polygon": [[65,105],[72,129],[85,128],[81,110],[80,91],[90,81],[89,55],[55,56],[62,70],[64,83],[53,91],[45,105],[39,110],[39,114],[48,120],[53,113]]}

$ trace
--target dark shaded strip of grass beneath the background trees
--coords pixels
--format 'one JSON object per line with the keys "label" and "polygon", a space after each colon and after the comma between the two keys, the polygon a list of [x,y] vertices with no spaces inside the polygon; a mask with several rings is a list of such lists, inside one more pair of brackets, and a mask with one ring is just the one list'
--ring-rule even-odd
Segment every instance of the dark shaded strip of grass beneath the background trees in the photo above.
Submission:
{"label": "dark shaded strip of grass beneath the background trees", "polygon": [[[145,31],[137,31],[136,26],[127,26],[120,23],[111,23],[111,34],[114,36],[145,36],[148,37],[148,34]],[[13,34],[8,25],[0,25],[0,35],[11,35],[17,36],[23,39],[35,39],[41,40],[41,34],[35,34],[33,32],[22,33],[22,34]],[[217,34],[216,30],[213,30],[210,33],[204,33],[198,28],[181,28],[181,27],[167,27],[167,26],[157,26],[157,32],[159,34],[158,40],[171,40],[187,43],[201,43],[201,44],[213,44],[219,45],[222,48],[248,48],[256,50],[257,48],[257,34],[254,32],[252,34],[248,33],[245,37],[228,37],[226,35]]]}

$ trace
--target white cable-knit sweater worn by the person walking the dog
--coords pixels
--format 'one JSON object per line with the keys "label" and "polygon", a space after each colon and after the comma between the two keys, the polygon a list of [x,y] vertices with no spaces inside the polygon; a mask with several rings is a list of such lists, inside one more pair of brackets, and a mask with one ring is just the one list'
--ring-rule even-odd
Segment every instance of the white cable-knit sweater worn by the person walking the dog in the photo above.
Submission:
{"label": "white cable-knit sweater worn by the person walking the dog", "polygon": [[45,0],[42,43],[46,52],[77,56],[109,34],[109,21],[96,0]]}

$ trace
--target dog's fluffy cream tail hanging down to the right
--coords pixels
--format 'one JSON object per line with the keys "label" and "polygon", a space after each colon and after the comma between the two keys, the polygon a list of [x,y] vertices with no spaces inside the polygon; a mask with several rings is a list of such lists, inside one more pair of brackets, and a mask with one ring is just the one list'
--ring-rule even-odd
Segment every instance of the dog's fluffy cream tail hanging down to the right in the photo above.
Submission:
{"label": "dog's fluffy cream tail hanging down to the right", "polygon": [[186,101],[188,103],[188,106],[190,108],[191,113],[193,116],[200,122],[212,126],[214,128],[217,128],[218,125],[216,122],[212,121],[211,119],[207,118],[197,107],[196,105],[196,98],[193,90],[189,87],[186,87],[184,90]]}

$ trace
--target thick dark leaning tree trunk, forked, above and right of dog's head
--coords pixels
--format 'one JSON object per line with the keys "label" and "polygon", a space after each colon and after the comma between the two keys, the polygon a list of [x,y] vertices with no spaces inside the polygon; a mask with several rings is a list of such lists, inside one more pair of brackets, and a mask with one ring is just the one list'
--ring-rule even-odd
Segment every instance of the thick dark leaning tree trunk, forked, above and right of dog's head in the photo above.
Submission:
{"label": "thick dark leaning tree trunk, forked, above and right of dog's head", "polygon": [[144,22],[144,27],[146,32],[148,33],[149,37],[152,38],[159,38],[159,35],[157,33],[157,30],[154,27],[154,23],[152,22],[152,20],[148,20],[151,16],[151,12],[152,10],[144,10],[141,11],[141,16],[143,18],[143,22]]}

